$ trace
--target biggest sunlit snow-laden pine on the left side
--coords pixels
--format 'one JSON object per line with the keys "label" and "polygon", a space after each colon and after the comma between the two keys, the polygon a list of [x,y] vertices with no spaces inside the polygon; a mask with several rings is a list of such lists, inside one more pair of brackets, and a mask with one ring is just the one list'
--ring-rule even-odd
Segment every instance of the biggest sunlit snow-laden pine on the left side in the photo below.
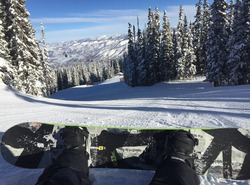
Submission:
{"label": "biggest sunlit snow-laden pine on the left side", "polygon": [[13,83],[19,91],[43,95],[45,83],[41,79],[42,67],[35,31],[29,22],[26,0],[6,0],[6,41],[9,43],[11,62],[16,72]]}

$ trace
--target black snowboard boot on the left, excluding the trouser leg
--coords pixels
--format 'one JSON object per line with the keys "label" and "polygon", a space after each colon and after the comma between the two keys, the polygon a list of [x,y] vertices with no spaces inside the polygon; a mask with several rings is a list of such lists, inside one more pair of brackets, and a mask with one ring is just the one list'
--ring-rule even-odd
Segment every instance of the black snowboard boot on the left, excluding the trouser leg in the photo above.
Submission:
{"label": "black snowboard boot on the left, excluding the trouser leg", "polygon": [[86,127],[66,126],[63,130],[62,139],[66,149],[86,149],[86,140],[89,132]]}

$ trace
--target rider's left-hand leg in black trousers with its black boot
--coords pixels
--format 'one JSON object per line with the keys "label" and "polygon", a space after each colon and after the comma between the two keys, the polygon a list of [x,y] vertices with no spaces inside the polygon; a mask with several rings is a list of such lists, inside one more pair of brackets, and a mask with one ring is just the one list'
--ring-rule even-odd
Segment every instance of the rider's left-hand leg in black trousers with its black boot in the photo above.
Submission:
{"label": "rider's left-hand leg in black trousers with its black boot", "polygon": [[65,127],[62,133],[65,150],[44,170],[36,185],[90,185],[89,154],[86,151],[88,136],[85,127]]}

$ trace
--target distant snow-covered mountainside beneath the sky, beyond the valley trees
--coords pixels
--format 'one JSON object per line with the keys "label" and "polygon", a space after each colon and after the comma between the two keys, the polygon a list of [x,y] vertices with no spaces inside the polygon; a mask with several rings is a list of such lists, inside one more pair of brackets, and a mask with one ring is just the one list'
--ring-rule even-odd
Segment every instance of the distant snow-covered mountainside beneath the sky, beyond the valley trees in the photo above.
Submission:
{"label": "distant snow-covered mountainside beneath the sky, beyond the valley trees", "polygon": [[48,50],[52,65],[67,65],[79,60],[90,62],[120,57],[127,50],[127,44],[127,35],[113,35],[48,44]]}

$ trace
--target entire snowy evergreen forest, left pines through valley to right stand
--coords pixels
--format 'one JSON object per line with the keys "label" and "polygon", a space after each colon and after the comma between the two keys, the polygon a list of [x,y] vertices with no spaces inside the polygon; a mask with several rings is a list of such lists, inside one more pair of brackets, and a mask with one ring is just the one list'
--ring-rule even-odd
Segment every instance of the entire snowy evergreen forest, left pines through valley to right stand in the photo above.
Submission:
{"label": "entire snowy evergreen forest, left pines through valley to right stand", "polygon": [[[42,39],[25,8],[26,0],[0,0],[0,79],[14,89],[49,96],[72,86],[103,81],[119,72],[131,86],[206,76],[214,86],[250,83],[250,2],[207,0],[196,4],[194,22],[180,6],[176,28],[167,12],[148,9],[142,30],[128,23],[128,48],[121,58],[78,61],[52,68],[41,24]],[[161,23],[162,21],[162,23]]]}

